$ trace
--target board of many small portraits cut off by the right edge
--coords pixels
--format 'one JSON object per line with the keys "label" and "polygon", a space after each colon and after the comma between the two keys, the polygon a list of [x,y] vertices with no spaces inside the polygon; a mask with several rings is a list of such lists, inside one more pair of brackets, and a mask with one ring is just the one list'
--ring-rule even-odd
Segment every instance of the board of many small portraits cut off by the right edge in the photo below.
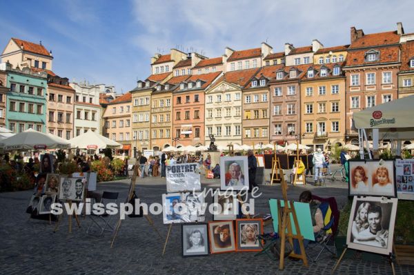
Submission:
{"label": "board of many small portraits cut off by the right edge", "polygon": [[414,201],[414,159],[395,160],[397,196]]}

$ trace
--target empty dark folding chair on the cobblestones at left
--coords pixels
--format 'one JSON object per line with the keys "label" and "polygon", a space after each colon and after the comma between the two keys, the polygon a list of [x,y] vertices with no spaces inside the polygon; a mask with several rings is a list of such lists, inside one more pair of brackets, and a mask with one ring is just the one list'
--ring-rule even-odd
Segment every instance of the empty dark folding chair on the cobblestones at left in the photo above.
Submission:
{"label": "empty dark folding chair on the cobblestones at left", "polygon": [[[108,203],[117,203],[118,201],[118,192],[103,192],[101,203],[105,205],[108,205]],[[108,202],[109,201],[109,202]],[[110,220],[112,219],[113,215],[108,215],[106,212],[100,215],[91,214],[90,219],[92,220],[92,223],[88,227],[88,230],[86,230],[86,234],[92,235],[92,236],[102,236],[103,232],[108,231],[112,232],[115,228],[110,224]],[[96,230],[93,228],[97,227]]]}

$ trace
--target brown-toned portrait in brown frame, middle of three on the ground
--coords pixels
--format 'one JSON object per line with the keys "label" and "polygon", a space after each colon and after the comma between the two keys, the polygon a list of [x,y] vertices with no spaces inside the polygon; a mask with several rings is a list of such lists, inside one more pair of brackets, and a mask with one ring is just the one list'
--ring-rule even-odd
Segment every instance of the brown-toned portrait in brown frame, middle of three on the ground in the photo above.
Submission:
{"label": "brown-toned portrait in brown frame, middle of three on the ground", "polygon": [[235,251],[233,221],[208,222],[208,235],[210,237],[210,252],[212,254]]}

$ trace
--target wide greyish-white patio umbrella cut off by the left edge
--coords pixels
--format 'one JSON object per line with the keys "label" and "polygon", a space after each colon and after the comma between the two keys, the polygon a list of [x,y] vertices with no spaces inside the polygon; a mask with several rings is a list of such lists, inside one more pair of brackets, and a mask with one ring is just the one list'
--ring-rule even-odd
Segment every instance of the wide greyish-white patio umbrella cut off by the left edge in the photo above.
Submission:
{"label": "wide greyish-white patio umbrella cut off by the left edge", "polygon": [[28,129],[1,141],[4,150],[66,149],[69,141],[58,141],[50,135]]}

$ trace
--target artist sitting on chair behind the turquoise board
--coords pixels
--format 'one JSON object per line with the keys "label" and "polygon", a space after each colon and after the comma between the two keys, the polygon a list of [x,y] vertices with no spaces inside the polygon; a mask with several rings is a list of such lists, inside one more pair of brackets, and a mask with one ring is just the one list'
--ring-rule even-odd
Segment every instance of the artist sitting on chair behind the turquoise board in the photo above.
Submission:
{"label": "artist sitting on chair behind the turquoise board", "polygon": [[[309,206],[311,207],[311,217],[312,217],[312,225],[313,225],[313,234],[315,234],[315,241],[316,236],[319,234],[319,231],[322,230],[324,225],[324,217],[322,215],[322,211],[319,209],[319,201],[315,201],[312,199],[312,193],[311,191],[304,191],[299,195],[299,201],[301,203],[309,203]],[[308,245],[309,240],[304,239],[304,247]],[[300,253],[300,247],[299,247],[299,241],[297,241],[297,238],[293,239],[293,251],[295,254],[301,254]],[[298,258],[290,258],[293,261],[298,261]]]}

